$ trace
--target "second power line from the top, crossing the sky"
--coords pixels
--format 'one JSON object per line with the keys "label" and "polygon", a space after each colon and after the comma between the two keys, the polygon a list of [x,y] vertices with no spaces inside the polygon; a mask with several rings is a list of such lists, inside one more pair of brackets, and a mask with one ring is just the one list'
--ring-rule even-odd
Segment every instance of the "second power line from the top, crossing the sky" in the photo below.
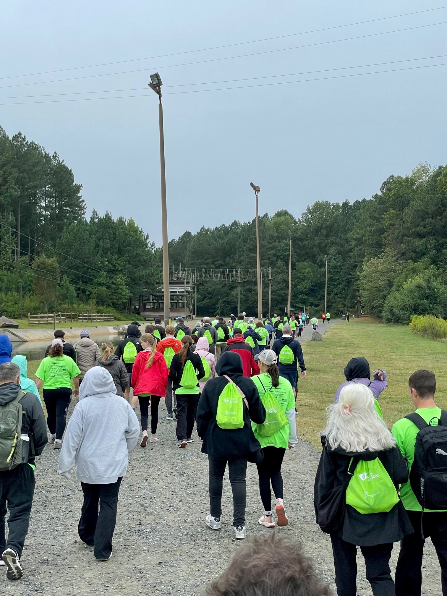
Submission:
{"label": "second power line from the top, crossing the sky", "polygon": [[206,64],[206,63],[210,63],[210,62],[220,62],[222,60],[235,60],[236,58],[247,58],[247,57],[251,57],[251,56],[259,56],[262,54],[274,54],[276,52],[285,52],[285,51],[290,51],[291,49],[311,48],[314,46],[327,45],[327,44],[338,44],[339,42],[352,41],[354,39],[371,38],[371,37],[377,37],[379,35],[389,35],[390,33],[401,33],[403,31],[412,31],[415,29],[426,29],[427,27],[435,27],[437,25],[443,25],[446,23],[447,23],[447,21],[441,21],[440,23],[430,23],[427,25],[418,25],[417,27],[405,27],[405,29],[393,29],[392,31],[382,31],[379,33],[369,33],[368,35],[358,35],[358,36],[355,36],[352,38],[333,39],[331,41],[322,41],[322,42],[318,42],[316,44],[297,45],[297,46],[293,46],[291,48],[268,49],[268,50],[265,50],[262,52],[252,52],[252,54],[240,54],[237,56],[227,56],[224,58],[210,58],[209,60],[199,60],[196,62],[185,62],[182,64],[167,64],[165,66],[153,66],[153,67],[151,67],[151,69],[122,70],[122,71],[116,72],[116,73],[104,73],[103,75],[86,75],[86,76],[80,76],[80,77],[71,77],[68,79],[54,79],[54,80],[37,81],[34,83],[20,83],[17,85],[4,85],[4,86],[0,87],[0,89],[10,89],[11,87],[24,87],[24,86],[29,86],[29,85],[47,85],[48,83],[61,83],[61,82],[65,82],[67,80],[94,79],[94,78],[103,77],[103,76],[128,75],[128,74],[138,73],[138,72],[147,72],[148,70],[172,69],[172,68],[176,68],[179,66],[191,66],[193,64]]}

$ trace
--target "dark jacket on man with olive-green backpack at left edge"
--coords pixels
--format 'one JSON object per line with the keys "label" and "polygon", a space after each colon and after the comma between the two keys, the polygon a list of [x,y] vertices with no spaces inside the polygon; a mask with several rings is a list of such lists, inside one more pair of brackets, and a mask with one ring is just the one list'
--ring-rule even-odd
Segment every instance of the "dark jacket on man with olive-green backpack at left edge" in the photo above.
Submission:
{"label": "dark jacket on man with olive-green backpack at left edge", "polygon": [[[0,406],[12,402],[19,391],[20,385],[12,381],[0,385]],[[21,434],[26,434],[30,439],[28,457],[26,459],[26,455],[22,451],[22,461],[34,465],[36,456],[41,455],[48,443],[44,410],[34,393],[26,393],[19,403],[23,408]],[[0,474],[4,473],[8,474],[8,472],[0,472]]]}

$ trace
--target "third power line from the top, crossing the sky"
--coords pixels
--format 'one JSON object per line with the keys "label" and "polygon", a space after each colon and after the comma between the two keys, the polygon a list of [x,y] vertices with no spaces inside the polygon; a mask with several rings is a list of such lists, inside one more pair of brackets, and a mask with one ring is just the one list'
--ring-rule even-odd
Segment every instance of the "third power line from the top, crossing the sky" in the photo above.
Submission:
{"label": "third power line from the top, crossing the sky", "polygon": [[[321,69],[321,70],[305,70],[300,73],[286,73],[285,75],[266,75],[246,77],[244,79],[228,79],[228,80],[209,80],[201,83],[185,83],[182,85],[163,85],[165,89],[172,89],[174,87],[190,87],[195,85],[218,85],[219,83],[235,83],[244,80],[259,80],[259,79],[275,79],[283,76],[299,76],[299,75],[313,75],[315,73],[333,72],[334,70],[348,70],[348,69],[362,69],[370,66],[384,66],[386,64],[400,64],[403,62],[415,62],[417,60],[434,60],[435,58],[445,58],[447,54],[440,54],[437,56],[427,56],[424,58],[407,58],[406,60],[391,60],[389,62],[375,62],[372,64],[358,64],[357,66],[340,66],[336,69]],[[15,100],[15,99],[29,99],[34,97],[60,97],[61,95],[90,95],[94,93],[119,93],[124,91],[145,91],[146,87],[135,87],[131,89],[104,89],[103,91],[72,91],[71,93],[50,93],[41,95],[10,95],[0,97],[0,100]],[[169,94],[168,94],[169,95]],[[138,96],[136,96],[138,97]],[[1,105],[1,104],[0,104]],[[7,105],[7,104],[5,104]]]}

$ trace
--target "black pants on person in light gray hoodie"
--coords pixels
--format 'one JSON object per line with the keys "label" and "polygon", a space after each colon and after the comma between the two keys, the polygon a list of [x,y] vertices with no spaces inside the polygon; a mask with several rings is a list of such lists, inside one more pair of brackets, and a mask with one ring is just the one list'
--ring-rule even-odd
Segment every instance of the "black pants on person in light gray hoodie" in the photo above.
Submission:
{"label": "black pants on person in light gray hoodie", "polygon": [[95,547],[96,558],[108,558],[112,551],[111,541],[115,530],[121,481],[122,478],[119,478],[116,482],[108,485],[80,483],[84,493],[84,502],[77,533],[85,544]]}

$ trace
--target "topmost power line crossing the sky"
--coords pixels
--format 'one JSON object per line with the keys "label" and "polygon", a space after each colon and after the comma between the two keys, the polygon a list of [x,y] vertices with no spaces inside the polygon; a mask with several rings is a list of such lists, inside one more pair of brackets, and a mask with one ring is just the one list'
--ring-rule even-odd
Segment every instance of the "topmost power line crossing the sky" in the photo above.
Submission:
{"label": "topmost power line crossing the sky", "polygon": [[155,60],[156,58],[169,58],[171,56],[178,56],[178,55],[182,55],[182,54],[194,54],[195,52],[207,52],[212,49],[233,48],[234,46],[238,46],[238,45],[258,44],[263,41],[273,41],[275,39],[284,39],[284,38],[289,38],[289,37],[295,37],[297,35],[306,35],[308,33],[320,33],[322,31],[330,31],[331,29],[342,29],[342,27],[353,27],[355,25],[362,25],[362,24],[366,24],[366,23],[376,23],[377,21],[386,21],[391,18],[408,17],[409,15],[414,15],[414,14],[430,13],[435,10],[443,10],[444,8],[447,8],[447,6],[441,6],[441,7],[437,7],[437,8],[427,8],[426,10],[418,10],[418,11],[415,11],[414,13],[395,14],[390,17],[372,18],[367,21],[357,21],[356,23],[346,23],[344,25],[336,25],[333,27],[324,27],[324,29],[312,29],[309,31],[301,31],[299,33],[289,33],[288,35],[278,35],[278,36],[272,37],[272,38],[254,39],[253,41],[238,42],[237,44],[218,45],[218,46],[214,46],[212,48],[190,49],[190,50],[183,51],[183,52],[174,52],[173,54],[160,54],[157,56],[148,56],[146,58],[132,58],[131,60],[119,60],[116,62],[103,62],[101,64],[90,64],[89,66],[74,66],[74,67],[68,68],[68,69],[45,70],[44,72],[29,73],[28,75],[4,76],[4,77],[0,77],[0,80],[18,79],[20,77],[37,76],[37,75],[51,75],[52,73],[67,72],[70,70],[92,69],[92,68],[97,68],[100,66],[113,66],[114,64],[126,64],[129,62],[138,62],[141,60]]}

